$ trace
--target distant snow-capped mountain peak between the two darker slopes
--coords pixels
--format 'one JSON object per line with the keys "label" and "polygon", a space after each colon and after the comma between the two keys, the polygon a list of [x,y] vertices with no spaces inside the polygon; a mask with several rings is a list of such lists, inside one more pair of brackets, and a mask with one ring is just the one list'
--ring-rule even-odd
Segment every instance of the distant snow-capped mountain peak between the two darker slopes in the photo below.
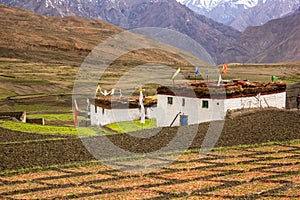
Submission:
{"label": "distant snow-capped mountain peak between the two darker slopes", "polygon": [[[240,31],[280,18],[300,6],[299,0],[177,0],[197,13]],[[257,14],[259,13],[259,17]]]}

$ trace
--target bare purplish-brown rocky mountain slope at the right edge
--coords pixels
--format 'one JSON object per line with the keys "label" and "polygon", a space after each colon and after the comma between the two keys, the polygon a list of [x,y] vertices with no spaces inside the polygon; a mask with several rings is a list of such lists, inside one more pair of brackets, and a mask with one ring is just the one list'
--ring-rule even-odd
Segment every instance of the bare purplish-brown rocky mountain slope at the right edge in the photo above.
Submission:
{"label": "bare purplish-brown rocky mountain slope at the right edge", "polygon": [[300,60],[300,13],[248,27],[223,52],[225,62],[283,62]]}

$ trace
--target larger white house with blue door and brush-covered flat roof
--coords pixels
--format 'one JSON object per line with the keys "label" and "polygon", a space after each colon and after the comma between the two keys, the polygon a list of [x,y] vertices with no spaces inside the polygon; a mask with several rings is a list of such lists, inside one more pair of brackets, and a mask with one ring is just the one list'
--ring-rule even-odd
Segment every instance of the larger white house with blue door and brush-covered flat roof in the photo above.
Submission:
{"label": "larger white house with blue door and brush-covered flat roof", "polygon": [[[180,92],[185,90],[184,88],[161,87],[157,95],[157,126],[185,126],[222,120],[228,110],[285,108],[285,84],[249,84],[249,82],[239,82],[224,85],[224,96],[220,98],[207,97],[209,94],[207,87],[201,92],[197,92],[197,86],[193,87],[195,95],[192,97]],[[203,84],[198,87],[205,88]],[[234,89],[230,90],[230,87]],[[175,95],[172,90],[179,91],[179,94]]]}

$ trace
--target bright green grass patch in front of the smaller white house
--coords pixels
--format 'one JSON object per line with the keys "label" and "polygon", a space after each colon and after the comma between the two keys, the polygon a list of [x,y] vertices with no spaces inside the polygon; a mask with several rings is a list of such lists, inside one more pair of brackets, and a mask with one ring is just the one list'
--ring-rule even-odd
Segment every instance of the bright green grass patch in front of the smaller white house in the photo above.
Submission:
{"label": "bright green grass patch in front of the smaller white house", "polygon": [[143,129],[156,128],[156,120],[147,119],[145,124],[141,124],[140,120],[131,121],[131,122],[119,122],[119,123],[109,124],[106,127],[118,133],[128,133],[133,131],[140,131]]}

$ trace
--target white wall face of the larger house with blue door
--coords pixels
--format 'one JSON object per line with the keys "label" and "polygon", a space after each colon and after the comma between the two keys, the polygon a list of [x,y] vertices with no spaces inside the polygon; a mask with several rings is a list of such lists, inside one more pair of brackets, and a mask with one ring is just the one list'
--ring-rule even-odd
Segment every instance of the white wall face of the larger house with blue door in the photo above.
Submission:
{"label": "white wall face of the larger house with blue door", "polygon": [[157,127],[185,126],[223,120],[227,110],[285,108],[286,92],[228,99],[191,98],[159,94]]}

